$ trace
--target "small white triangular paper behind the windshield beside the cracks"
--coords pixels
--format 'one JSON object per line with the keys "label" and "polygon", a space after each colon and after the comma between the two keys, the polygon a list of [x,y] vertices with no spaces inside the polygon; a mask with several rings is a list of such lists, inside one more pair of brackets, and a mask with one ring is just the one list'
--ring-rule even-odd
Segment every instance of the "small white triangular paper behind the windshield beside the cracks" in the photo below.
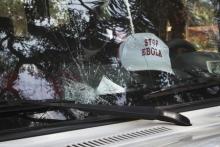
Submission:
{"label": "small white triangular paper behind the windshield beside the cracks", "polygon": [[115,94],[115,93],[124,93],[126,89],[115,84],[107,77],[103,76],[101,82],[99,83],[98,88],[96,89],[97,95],[106,95],[106,94]]}

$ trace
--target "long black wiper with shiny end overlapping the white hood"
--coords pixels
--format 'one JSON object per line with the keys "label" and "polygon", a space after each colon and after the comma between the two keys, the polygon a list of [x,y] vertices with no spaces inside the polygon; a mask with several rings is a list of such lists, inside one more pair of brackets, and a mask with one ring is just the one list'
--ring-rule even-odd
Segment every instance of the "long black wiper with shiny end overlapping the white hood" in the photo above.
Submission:
{"label": "long black wiper with shiny end overlapping the white hood", "polygon": [[125,118],[161,120],[181,126],[191,126],[190,120],[187,117],[179,113],[164,111],[154,107],[106,106],[106,105],[75,104],[72,102],[51,102],[51,103],[43,102],[38,104],[49,107],[74,108],[82,111],[94,112],[97,114],[108,114],[113,116],[121,116]]}

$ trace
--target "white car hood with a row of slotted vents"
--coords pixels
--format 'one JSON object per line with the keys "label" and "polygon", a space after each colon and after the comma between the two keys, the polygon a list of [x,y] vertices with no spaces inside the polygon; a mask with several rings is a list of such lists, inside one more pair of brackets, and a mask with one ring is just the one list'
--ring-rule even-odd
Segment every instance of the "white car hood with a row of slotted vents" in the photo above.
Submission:
{"label": "white car hood with a row of slotted vents", "polygon": [[36,136],[0,143],[0,147],[170,147],[220,146],[220,106],[182,113],[192,126],[151,120]]}

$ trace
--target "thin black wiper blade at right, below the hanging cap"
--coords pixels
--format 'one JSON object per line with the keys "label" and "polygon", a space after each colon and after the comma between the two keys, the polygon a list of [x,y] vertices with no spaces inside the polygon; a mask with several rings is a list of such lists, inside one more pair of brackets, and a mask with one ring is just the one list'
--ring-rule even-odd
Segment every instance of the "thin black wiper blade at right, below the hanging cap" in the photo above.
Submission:
{"label": "thin black wiper blade at right, below the hanging cap", "polygon": [[217,85],[220,85],[220,81],[219,80],[214,81],[212,79],[210,81],[205,81],[201,83],[195,83],[195,84],[190,84],[190,85],[186,84],[186,85],[174,86],[174,87],[163,89],[163,90],[158,90],[158,91],[155,91],[149,94],[145,94],[143,98],[145,100],[149,100],[149,99],[156,98],[156,97],[167,96],[167,95],[171,95],[171,94],[175,94],[179,92],[193,91],[193,90],[208,88],[208,87],[217,86]]}

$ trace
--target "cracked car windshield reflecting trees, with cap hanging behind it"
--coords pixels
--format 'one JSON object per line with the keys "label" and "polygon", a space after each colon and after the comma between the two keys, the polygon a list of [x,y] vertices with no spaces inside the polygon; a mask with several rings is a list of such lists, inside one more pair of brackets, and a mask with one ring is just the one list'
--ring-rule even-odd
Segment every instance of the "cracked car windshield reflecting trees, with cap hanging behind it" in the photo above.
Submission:
{"label": "cracked car windshield reflecting trees, with cap hanging behind it", "polygon": [[[1,107],[216,99],[219,29],[218,0],[1,0]],[[25,116],[42,117],[71,119],[61,110]]]}

